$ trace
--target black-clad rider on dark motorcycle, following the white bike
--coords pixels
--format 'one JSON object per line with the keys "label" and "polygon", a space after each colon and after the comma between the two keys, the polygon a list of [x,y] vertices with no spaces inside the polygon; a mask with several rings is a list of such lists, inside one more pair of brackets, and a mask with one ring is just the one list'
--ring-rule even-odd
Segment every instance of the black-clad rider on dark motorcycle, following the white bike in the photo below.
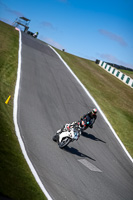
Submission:
{"label": "black-clad rider on dark motorcycle, following the white bike", "polygon": [[81,117],[81,120],[85,119],[84,121],[85,121],[86,128],[88,127],[93,128],[93,124],[97,118],[96,114],[97,114],[97,109],[94,108],[91,112],[88,112],[87,114],[83,115],[83,117]]}

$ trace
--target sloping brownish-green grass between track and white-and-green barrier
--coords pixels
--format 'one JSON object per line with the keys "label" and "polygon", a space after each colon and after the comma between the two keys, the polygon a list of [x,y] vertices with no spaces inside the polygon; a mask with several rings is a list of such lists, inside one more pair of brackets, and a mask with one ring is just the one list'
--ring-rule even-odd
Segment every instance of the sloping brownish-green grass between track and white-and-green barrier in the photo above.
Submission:
{"label": "sloping brownish-green grass between track and white-and-green barrier", "polygon": [[93,61],[56,51],[94,97],[133,157],[133,89]]}

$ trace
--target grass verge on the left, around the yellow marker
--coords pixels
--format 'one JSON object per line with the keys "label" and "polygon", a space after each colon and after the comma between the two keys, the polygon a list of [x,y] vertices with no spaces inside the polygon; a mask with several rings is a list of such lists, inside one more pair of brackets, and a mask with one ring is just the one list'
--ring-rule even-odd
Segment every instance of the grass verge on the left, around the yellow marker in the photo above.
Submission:
{"label": "grass verge on the left, around the yellow marker", "polygon": [[[14,130],[18,40],[18,32],[0,21],[0,194],[13,200],[44,200],[46,198],[22,155]],[[9,95],[11,100],[6,105]]]}

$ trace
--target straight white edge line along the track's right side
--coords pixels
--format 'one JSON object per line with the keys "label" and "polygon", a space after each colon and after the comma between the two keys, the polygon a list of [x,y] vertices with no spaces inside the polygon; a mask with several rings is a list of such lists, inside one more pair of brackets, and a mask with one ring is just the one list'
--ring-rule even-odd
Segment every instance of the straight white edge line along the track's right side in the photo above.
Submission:
{"label": "straight white edge line along the track's right side", "polygon": [[115,130],[113,129],[113,127],[111,126],[110,122],[108,121],[108,119],[106,118],[105,114],[103,113],[103,111],[101,110],[101,108],[99,107],[99,105],[97,104],[97,102],[95,101],[95,99],[91,96],[91,94],[89,93],[89,91],[85,88],[85,86],[81,83],[81,81],[78,79],[78,77],[74,74],[74,72],[70,69],[70,67],[67,65],[67,63],[63,60],[63,58],[57,53],[57,51],[51,47],[50,45],[48,45],[60,58],[60,60],[64,63],[64,65],[68,68],[68,70],[72,73],[72,75],[76,78],[76,80],[79,82],[79,84],[82,86],[82,88],[85,90],[85,92],[87,93],[87,95],[90,97],[90,99],[93,101],[93,103],[95,104],[95,106],[98,108],[98,110],[100,111],[101,115],[103,116],[104,120],[106,121],[106,123],[108,124],[109,128],[111,129],[111,131],[113,132],[113,134],[115,135],[116,139],[118,140],[118,142],[120,143],[121,147],[123,148],[123,150],[125,151],[125,153],[127,154],[127,156],[129,157],[129,159],[131,160],[131,162],[133,163],[133,158],[131,157],[131,155],[129,154],[129,152],[127,151],[126,147],[124,146],[124,144],[122,143],[122,141],[120,140],[120,138],[118,137],[118,135],[116,134]]}

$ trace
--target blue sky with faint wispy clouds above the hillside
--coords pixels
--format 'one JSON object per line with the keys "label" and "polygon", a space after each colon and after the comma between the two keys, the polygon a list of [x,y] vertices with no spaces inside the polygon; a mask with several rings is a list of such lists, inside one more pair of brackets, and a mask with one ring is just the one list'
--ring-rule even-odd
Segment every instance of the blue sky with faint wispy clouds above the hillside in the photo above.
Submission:
{"label": "blue sky with faint wispy clouds above the hillside", "polygon": [[39,39],[90,60],[133,69],[133,0],[0,0],[0,20],[31,19]]}

